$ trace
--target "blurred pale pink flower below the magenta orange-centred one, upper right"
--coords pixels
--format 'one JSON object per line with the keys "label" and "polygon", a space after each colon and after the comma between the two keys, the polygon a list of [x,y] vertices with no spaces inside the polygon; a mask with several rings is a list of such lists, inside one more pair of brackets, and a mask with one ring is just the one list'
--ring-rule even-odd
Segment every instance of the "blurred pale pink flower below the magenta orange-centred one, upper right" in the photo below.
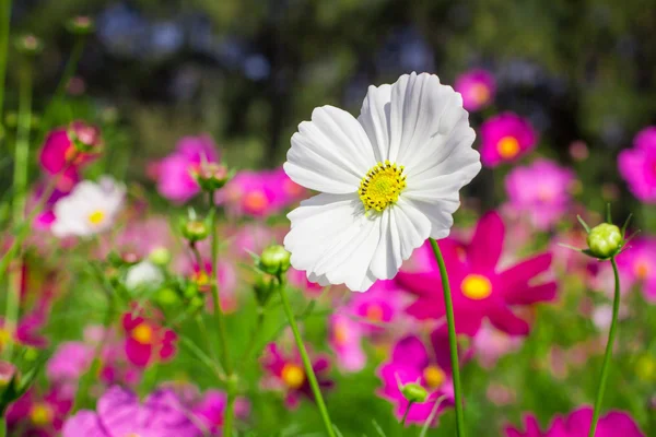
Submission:
{"label": "blurred pale pink flower below the magenta orange-centred one, upper right", "polygon": [[530,216],[534,226],[548,229],[567,212],[574,172],[549,160],[515,167],[505,179],[511,208]]}

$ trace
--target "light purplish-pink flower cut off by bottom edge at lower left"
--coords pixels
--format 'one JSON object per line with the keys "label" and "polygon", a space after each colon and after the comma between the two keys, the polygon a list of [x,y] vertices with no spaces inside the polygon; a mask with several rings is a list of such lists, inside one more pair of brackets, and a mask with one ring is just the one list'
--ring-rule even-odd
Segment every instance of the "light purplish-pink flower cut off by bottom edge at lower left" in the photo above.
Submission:
{"label": "light purplish-pink flower cut off by bottom edge at lower left", "polygon": [[157,390],[143,404],[116,386],[97,402],[97,412],[82,410],[63,424],[63,437],[179,437],[200,436],[171,390]]}

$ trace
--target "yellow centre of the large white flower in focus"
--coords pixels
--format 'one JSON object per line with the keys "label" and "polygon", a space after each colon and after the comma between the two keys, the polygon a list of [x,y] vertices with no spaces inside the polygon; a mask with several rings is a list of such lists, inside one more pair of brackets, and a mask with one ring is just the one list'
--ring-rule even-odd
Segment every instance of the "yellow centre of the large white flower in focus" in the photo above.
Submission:
{"label": "yellow centre of the large white flower in focus", "polygon": [[403,166],[390,164],[389,161],[373,166],[360,182],[360,200],[364,209],[385,210],[389,204],[399,200],[399,194],[406,188]]}

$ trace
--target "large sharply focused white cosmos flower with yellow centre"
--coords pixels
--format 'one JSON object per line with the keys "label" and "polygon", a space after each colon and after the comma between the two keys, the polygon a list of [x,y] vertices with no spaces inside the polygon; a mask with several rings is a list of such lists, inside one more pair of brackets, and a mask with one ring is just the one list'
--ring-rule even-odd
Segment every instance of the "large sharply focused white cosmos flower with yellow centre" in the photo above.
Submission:
{"label": "large sharply focused white cosmos flower with yellow centre", "polygon": [[366,291],[429,237],[446,237],[458,191],[481,168],[468,118],[460,94],[426,73],[370,86],[358,119],[316,108],[284,164],[320,191],[288,215],[292,265],[312,282]]}

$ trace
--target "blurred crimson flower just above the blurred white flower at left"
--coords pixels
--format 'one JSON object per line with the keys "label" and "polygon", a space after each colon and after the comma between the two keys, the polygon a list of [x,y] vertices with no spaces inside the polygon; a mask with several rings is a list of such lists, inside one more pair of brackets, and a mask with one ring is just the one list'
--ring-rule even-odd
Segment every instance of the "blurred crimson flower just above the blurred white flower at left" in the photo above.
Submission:
{"label": "blurred crimson flower just above the blurred white flower at left", "polygon": [[[89,152],[79,152],[75,141],[87,147]],[[101,131],[84,121],[75,120],[68,127],[50,131],[39,155],[43,170],[51,176],[59,175],[65,169],[67,174],[77,174],[78,168],[97,157],[103,147]],[[69,174],[69,176],[70,176]]]}

